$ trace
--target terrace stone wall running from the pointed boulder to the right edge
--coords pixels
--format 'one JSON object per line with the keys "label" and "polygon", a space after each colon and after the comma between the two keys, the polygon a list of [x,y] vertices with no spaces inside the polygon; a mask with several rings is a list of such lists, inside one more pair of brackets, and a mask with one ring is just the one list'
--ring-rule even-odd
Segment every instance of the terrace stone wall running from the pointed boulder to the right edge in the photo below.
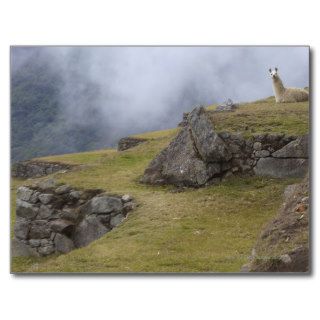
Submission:
{"label": "terrace stone wall running from the pointed boulder to the right edge", "polygon": [[274,178],[302,178],[308,171],[308,135],[258,134],[250,139],[218,133],[232,153],[224,176],[250,173]]}

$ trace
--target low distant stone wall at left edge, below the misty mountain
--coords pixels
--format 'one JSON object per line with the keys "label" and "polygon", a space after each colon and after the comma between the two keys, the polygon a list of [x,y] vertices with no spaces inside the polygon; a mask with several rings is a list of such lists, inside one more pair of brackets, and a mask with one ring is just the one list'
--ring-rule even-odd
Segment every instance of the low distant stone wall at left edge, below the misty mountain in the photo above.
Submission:
{"label": "low distant stone wall at left edge, below the misty mountain", "polygon": [[58,171],[70,170],[73,166],[59,162],[22,161],[12,165],[11,175],[15,178],[37,178]]}

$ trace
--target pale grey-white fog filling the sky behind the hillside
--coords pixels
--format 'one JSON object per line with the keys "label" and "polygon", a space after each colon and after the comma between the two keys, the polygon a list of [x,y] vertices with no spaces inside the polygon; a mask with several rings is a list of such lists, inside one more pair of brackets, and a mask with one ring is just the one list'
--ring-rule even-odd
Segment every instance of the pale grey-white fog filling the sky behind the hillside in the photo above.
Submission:
{"label": "pale grey-white fog filling the sky behind the hillside", "polygon": [[95,126],[105,146],[175,127],[199,104],[270,96],[270,67],[285,86],[309,85],[307,47],[15,47],[11,61],[12,72],[25,61],[58,72],[61,116]]}

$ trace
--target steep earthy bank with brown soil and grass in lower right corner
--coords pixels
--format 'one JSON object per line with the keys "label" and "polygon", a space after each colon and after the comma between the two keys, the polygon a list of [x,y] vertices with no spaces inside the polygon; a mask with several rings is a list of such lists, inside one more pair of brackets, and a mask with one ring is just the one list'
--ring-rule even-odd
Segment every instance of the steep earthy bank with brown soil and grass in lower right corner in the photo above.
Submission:
{"label": "steep earthy bank with brown soil and grass in lower right corner", "polygon": [[278,214],[261,233],[243,271],[309,271],[309,179],[290,185]]}

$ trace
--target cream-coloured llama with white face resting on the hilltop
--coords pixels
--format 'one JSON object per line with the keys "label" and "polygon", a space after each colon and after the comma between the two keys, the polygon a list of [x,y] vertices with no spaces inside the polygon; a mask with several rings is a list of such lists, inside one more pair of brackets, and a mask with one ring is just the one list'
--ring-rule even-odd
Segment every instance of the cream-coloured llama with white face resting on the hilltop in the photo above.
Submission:
{"label": "cream-coloured llama with white face resting on the hilltop", "polygon": [[278,69],[269,69],[270,76],[272,78],[272,86],[276,103],[282,102],[301,102],[309,100],[309,92],[305,89],[299,88],[285,88],[279,75]]}

